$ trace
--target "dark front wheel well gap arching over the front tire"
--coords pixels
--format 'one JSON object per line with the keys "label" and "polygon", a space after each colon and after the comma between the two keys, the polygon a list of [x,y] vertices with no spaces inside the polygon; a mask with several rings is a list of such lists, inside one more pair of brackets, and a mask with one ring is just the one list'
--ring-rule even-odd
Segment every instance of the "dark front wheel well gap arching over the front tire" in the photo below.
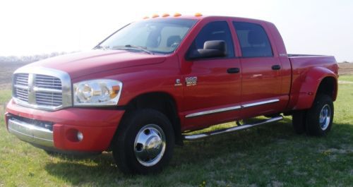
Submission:
{"label": "dark front wheel well gap arching over the front tire", "polygon": [[150,92],[139,95],[126,105],[126,111],[133,111],[136,109],[155,109],[167,116],[174,129],[175,143],[177,145],[183,145],[177,105],[171,95],[164,92]]}

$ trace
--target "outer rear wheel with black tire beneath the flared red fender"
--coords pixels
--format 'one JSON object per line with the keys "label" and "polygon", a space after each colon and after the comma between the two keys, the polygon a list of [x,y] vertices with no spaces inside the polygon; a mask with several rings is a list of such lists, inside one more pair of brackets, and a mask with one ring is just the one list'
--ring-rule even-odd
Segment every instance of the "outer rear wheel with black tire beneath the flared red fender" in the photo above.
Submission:
{"label": "outer rear wheel with black tire beneath the flared red fender", "polygon": [[[325,112],[325,109],[328,109]],[[323,112],[323,113],[322,113]],[[321,123],[321,114],[329,118],[323,118]],[[317,95],[313,106],[306,114],[306,132],[309,135],[326,135],[333,123],[333,100],[328,95]]]}

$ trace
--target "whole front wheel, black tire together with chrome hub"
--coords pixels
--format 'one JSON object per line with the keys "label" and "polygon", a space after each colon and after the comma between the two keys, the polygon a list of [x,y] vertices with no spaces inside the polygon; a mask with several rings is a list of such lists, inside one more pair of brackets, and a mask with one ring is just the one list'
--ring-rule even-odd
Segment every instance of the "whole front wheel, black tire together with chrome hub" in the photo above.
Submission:
{"label": "whole front wheel, black tire together with chrome hub", "polygon": [[112,145],[115,162],[125,174],[157,173],[172,158],[172,123],[152,109],[130,112],[121,121]]}

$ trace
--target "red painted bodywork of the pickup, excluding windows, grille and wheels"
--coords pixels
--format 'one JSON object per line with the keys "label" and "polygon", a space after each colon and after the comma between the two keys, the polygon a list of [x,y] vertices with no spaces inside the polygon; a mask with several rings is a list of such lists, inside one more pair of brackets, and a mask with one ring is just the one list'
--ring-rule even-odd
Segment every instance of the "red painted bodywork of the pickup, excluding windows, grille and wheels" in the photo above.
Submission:
{"label": "red painted bodywork of the pickup, excluding windows, grille and wheels", "polygon": [[[333,56],[288,57],[282,37],[275,25],[262,20],[216,16],[181,16],[198,22],[172,54],[145,54],[123,50],[92,50],[58,56],[29,66],[44,66],[67,72],[72,83],[81,80],[109,78],[124,83],[119,106],[148,92],[170,95],[177,107],[181,132],[205,128],[217,123],[247,119],[253,116],[309,109],[321,80],[335,78],[337,95],[337,64]],[[177,19],[177,18],[155,18]],[[207,23],[226,20],[232,32],[235,58],[187,61],[186,52],[198,32]],[[232,21],[262,25],[273,47],[273,57],[242,58],[236,30]],[[271,66],[280,65],[280,71]],[[240,73],[229,74],[228,68],[239,68]],[[185,78],[198,78],[197,85],[186,86]],[[181,80],[181,86],[175,81]],[[311,94],[309,94],[311,93]],[[334,99],[335,99],[334,97]],[[251,104],[268,99],[280,99],[239,110],[186,118],[200,111]],[[30,119],[54,122],[54,146],[59,150],[103,151],[119,130],[124,110],[69,107],[59,111],[41,111],[20,107],[9,102],[9,114]],[[67,138],[71,128],[85,135],[81,142]]]}

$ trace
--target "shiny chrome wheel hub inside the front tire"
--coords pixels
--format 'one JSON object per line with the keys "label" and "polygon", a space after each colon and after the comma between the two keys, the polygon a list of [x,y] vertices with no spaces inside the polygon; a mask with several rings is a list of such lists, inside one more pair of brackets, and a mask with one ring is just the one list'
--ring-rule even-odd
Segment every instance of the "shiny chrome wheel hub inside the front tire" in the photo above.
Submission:
{"label": "shiny chrome wheel hub inside the front tire", "polygon": [[151,167],[162,159],[166,147],[164,132],[160,126],[148,124],[138,131],[134,151],[138,162],[145,167]]}

